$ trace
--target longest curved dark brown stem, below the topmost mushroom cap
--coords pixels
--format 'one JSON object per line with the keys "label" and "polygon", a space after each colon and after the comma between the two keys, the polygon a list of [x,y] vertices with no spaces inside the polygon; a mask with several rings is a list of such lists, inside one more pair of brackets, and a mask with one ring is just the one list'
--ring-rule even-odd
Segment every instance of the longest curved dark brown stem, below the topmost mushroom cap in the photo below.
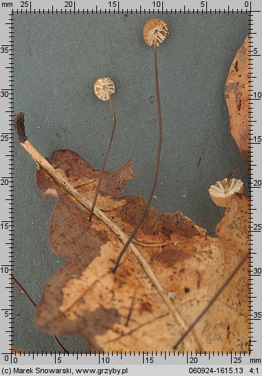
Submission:
{"label": "longest curved dark brown stem, below the topmost mushroom cap", "polygon": [[157,159],[155,164],[155,176],[153,180],[153,186],[151,188],[151,192],[149,195],[149,199],[146,202],[146,206],[144,207],[144,210],[142,211],[140,220],[138,221],[137,225],[135,226],[133,232],[129,236],[129,239],[127,243],[122,248],[122,251],[120,252],[118,259],[116,260],[116,265],[113,267],[112,272],[116,273],[118,266],[120,264],[121,258],[124,255],[124,252],[126,252],[127,248],[129,247],[129,244],[134,239],[136,233],[138,232],[140,225],[142,225],[142,222],[144,221],[144,216],[146,215],[146,212],[150,206],[150,203],[153,199],[153,195],[155,192],[155,186],[157,185],[157,177],[158,177],[158,171],[160,167],[160,155],[161,155],[161,146],[162,146],[162,116],[161,116],[161,107],[160,107],[160,91],[159,91],[159,84],[158,84],[158,74],[157,74],[157,32],[155,32],[155,38],[154,38],[154,60],[155,60],[155,98],[157,102],[157,116],[158,116],[158,146],[157,146]]}

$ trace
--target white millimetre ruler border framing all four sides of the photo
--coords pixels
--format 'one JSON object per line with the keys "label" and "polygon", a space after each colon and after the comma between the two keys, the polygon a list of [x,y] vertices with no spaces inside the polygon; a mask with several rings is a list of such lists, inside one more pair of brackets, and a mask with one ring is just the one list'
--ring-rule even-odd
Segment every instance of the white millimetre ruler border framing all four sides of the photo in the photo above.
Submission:
{"label": "white millimetre ruler border framing all four sides of the photo", "polygon": [[[213,366],[223,365],[227,371],[216,371],[216,373],[239,373],[243,367],[247,374],[259,373],[256,371],[261,364],[259,348],[262,346],[262,300],[260,294],[261,285],[261,267],[262,256],[259,254],[259,244],[261,243],[262,220],[261,220],[261,180],[262,168],[259,164],[262,158],[261,144],[262,134],[259,129],[262,116],[261,110],[261,54],[262,38],[261,30],[261,4],[259,1],[186,1],[186,4],[169,5],[167,1],[144,1],[139,3],[133,1],[132,4],[127,1],[98,1],[96,5],[91,4],[89,8],[85,1],[56,1],[56,5],[51,1],[14,1],[2,2],[1,8],[1,364],[19,366],[38,365],[38,364],[56,364],[70,366],[72,364],[85,365],[94,364],[101,366],[129,366],[132,365],[170,365],[176,372],[180,370],[179,366]],[[46,14],[47,16],[67,14],[67,16],[77,16],[78,14],[145,14],[149,12],[152,15],[162,14],[248,14],[248,32],[250,34],[250,100],[249,100],[249,118],[250,118],[250,351],[248,353],[189,353],[183,352],[162,352],[162,353],[96,353],[76,352],[70,355],[56,351],[45,353],[36,351],[34,353],[10,353],[10,346],[13,341],[13,315],[14,299],[12,294],[11,274],[13,272],[13,249],[14,249],[14,134],[12,130],[12,117],[14,109],[14,14],[23,14],[23,16],[34,16],[37,14]],[[3,341],[4,338],[4,341]],[[232,368],[232,372],[229,368]],[[192,368],[192,370],[193,370]],[[254,372],[250,371],[253,368]],[[181,368],[182,369],[182,368]],[[215,368],[214,368],[215,369]],[[218,368],[220,369],[220,368]],[[188,370],[188,367],[187,367]],[[179,371],[182,372],[182,371]],[[183,371],[184,372],[184,371]],[[195,373],[192,371],[191,373]]]}

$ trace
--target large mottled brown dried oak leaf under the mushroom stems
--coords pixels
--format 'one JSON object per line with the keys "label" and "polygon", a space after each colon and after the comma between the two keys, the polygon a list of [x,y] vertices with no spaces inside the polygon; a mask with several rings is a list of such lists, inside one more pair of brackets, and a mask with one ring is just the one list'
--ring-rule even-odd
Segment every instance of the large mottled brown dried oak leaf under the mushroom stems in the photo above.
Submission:
{"label": "large mottled brown dried oak leaf under the mushroom stems", "polygon": [[[98,171],[72,151],[56,151],[50,163],[72,186],[92,199]],[[105,173],[98,206],[130,234],[145,201],[112,197],[133,177],[131,162]],[[50,223],[50,243],[63,265],[43,289],[36,326],[54,335],[78,334],[91,351],[171,351],[183,333],[133,252],[116,274],[111,269],[122,249],[116,235],[60,188],[43,170],[37,184],[45,197],[58,197]],[[136,247],[189,326],[248,250],[248,197],[232,197],[217,225],[217,238],[206,236],[182,212],[161,214],[149,208]],[[158,243],[158,244],[157,244]],[[195,341],[195,342],[194,342]],[[188,351],[248,350],[248,265],[235,276],[197,324]]]}

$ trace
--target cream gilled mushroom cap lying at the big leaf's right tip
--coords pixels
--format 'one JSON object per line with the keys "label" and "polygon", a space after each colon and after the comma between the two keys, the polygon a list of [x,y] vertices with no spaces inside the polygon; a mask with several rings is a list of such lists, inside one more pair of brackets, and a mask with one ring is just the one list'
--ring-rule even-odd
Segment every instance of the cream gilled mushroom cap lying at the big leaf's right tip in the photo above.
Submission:
{"label": "cream gilled mushroom cap lying at the big leaf's right tip", "polygon": [[230,201],[232,195],[235,193],[243,193],[244,184],[241,179],[230,179],[228,190],[226,190],[226,183],[228,179],[223,179],[217,181],[216,184],[210,186],[208,189],[209,195],[212,201],[215,202],[217,206],[222,208],[228,208],[230,206]]}

